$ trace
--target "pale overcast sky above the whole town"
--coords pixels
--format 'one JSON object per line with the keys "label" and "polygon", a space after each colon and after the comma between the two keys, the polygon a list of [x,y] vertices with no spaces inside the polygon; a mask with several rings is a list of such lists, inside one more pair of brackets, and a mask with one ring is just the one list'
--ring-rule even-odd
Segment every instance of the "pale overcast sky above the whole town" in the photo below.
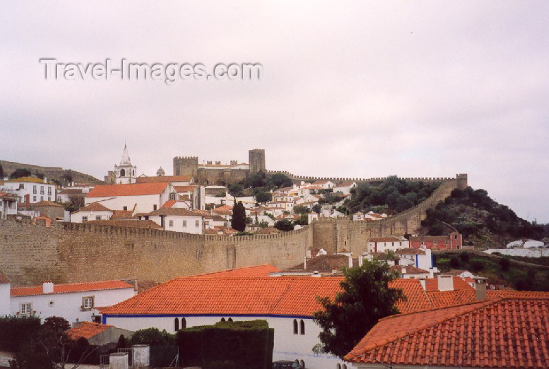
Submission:
{"label": "pale overcast sky above the whole town", "polygon": [[[549,222],[547,1],[3,1],[0,159],[103,178],[174,156],[309,176],[469,174]],[[40,58],[260,63],[261,81],[45,80]]]}

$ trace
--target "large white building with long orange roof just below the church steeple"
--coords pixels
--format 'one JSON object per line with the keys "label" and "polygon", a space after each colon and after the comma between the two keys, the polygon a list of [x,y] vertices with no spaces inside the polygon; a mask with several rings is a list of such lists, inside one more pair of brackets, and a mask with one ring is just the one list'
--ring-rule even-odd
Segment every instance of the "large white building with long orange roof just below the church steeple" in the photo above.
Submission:
{"label": "large white building with long orange roof just below the church steeple", "polygon": [[131,210],[135,206],[135,213],[149,213],[160,209],[167,200],[175,200],[175,196],[169,182],[100,185],[86,195],[84,202],[86,205],[101,202],[111,210]]}

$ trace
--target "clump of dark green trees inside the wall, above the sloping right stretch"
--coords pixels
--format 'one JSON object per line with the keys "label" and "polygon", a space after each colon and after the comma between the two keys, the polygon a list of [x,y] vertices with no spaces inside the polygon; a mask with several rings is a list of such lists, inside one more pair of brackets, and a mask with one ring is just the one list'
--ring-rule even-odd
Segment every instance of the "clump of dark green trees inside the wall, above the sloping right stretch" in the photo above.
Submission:
{"label": "clump of dark green trees inside the wall, above the sloping right stretch", "polygon": [[400,213],[427,199],[439,185],[440,182],[415,182],[397,176],[389,176],[377,184],[362,182],[351,189],[343,210],[348,214],[357,211]]}

